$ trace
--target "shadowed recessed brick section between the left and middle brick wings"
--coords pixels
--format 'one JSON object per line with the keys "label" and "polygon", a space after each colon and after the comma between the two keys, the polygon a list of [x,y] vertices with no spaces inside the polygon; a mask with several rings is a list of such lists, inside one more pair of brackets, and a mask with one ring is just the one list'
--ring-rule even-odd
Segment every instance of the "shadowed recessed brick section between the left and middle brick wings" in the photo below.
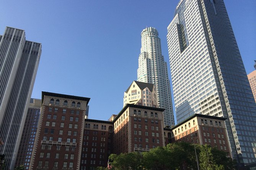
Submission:
{"label": "shadowed recessed brick section between the left and middle brick wings", "polygon": [[85,119],[80,170],[106,167],[112,143],[113,122]]}

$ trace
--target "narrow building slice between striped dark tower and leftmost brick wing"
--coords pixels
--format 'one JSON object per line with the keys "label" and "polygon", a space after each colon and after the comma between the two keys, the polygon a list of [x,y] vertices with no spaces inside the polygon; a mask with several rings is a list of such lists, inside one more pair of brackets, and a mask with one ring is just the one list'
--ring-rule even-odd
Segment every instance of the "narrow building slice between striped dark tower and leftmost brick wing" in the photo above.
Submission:
{"label": "narrow building slice between striped dark tower and leftmost brick wing", "polygon": [[41,104],[42,101],[40,99],[30,99],[15,167],[24,165],[26,169],[29,168],[34,141],[36,139],[36,131],[40,117]]}

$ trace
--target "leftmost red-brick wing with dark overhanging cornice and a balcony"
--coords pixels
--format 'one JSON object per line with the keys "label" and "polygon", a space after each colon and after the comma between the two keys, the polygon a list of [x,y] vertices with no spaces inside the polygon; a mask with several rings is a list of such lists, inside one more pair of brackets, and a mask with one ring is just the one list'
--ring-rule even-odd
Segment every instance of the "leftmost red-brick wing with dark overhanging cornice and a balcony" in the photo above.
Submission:
{"label": "leftmost red-brick wing with dark overhanging cornice and a balcony", "polygon": [[31,170],[78,170],[90,98],[42,92]]}

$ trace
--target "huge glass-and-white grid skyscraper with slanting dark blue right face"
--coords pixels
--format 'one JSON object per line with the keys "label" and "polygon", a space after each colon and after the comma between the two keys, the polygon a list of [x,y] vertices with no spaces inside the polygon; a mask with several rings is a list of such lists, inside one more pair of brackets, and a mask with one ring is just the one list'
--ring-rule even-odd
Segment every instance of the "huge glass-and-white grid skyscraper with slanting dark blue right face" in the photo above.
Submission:
{"label": "huge glass-and-white grid skyscraper with slanting dark blue right face", "polygon": [[223,0],[180,0],[168,26],[177,122],[225,120],[232,156],[256,161],[256,104]]}

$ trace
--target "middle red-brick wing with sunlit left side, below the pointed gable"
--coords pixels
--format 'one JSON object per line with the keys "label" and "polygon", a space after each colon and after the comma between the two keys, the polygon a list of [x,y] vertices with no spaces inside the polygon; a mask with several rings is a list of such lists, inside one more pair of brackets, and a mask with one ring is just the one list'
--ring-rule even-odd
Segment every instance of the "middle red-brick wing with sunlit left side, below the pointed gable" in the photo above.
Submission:
{"label": "middle red-brick wing with sunlit left side, below the pointed gable", "polygon": [[157,107],[126,104],[114,117],[113,152],[149,151],[164,146],[163,111]]}

